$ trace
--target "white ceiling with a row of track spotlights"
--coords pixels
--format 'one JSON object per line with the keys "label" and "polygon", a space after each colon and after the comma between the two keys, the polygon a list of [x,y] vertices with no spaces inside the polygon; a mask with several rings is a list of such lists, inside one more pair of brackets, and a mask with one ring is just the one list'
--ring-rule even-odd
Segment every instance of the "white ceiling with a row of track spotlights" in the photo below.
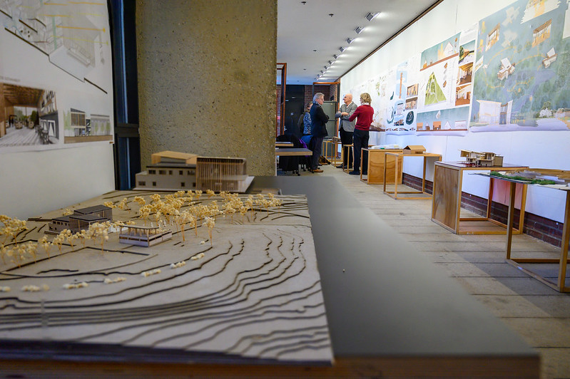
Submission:
{"label": "white ceiling with a row of track spotlights", "polygon": [[[287,84],[335,81],[438,2],[278,0],[277,61],[287,63]],[[372,21],[365,18],[377,12]],[[359,34],[357,26],[364,28]],[[349,45],[347,38],[354,41]],[[341,52],[340,47],[347,49]]]}

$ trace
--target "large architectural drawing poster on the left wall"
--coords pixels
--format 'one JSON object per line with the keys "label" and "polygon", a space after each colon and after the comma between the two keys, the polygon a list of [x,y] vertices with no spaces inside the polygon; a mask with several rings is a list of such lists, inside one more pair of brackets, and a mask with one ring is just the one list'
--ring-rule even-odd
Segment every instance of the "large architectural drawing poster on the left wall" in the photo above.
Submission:
{"label": "large architectural drawing poster on the left wall", "polygon": [[2,1],[0,22],[0,153],[112,142],[106,1]]}

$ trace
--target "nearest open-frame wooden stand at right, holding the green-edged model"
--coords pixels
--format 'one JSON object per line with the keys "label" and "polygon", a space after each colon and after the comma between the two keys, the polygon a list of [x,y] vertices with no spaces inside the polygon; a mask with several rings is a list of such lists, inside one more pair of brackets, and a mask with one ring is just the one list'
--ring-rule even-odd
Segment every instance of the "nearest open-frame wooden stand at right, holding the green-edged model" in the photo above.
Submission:
{"label": "nearest open-frame wooden stand at right, holding the green-edged model", "polygon": [[[566,192],[566,206],[564,208],[564,220],[562,227],[562,244],[560,249],[559,259],[545,259],[545,258],[513,258],[511,256],[511,245],[512,245],[512,235],[513,235],[513,219],[514,219],[514,194],[516,184],[526,184],[520,180],[512,180],[506,177],[494,177],[496,180],[504,180],[509,182],[509,216],[507,218],[507,255],[505,260],[507,263],[512,264],[517,269],[529,274],[535,279],[538,279],[546,286],[556,289],[559,292],[570,292],[570,286],[566,286],[566,265],[568,264],[568,246],[570,237],[570,187],[562,185],[539,185],[544,188],[552,188],[554,190],[561,190]],[[526,184],[529,185],[529,184]],[[546,279],[540,274],[524,268],[520,264],[525,263],[550,263],[559,264],[558,280],[556,282]]]}

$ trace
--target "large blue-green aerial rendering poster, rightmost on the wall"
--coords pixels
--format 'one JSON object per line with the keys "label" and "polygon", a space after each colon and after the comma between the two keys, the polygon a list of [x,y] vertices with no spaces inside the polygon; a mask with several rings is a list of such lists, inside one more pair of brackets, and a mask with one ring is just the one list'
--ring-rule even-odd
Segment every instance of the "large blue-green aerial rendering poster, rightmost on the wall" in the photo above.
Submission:
{"label": "large blue-green aerial rendering poster, rightmost on the wall", "polygon": [[569,130],[570,3],[519,0],[479,21],[471,132]]}

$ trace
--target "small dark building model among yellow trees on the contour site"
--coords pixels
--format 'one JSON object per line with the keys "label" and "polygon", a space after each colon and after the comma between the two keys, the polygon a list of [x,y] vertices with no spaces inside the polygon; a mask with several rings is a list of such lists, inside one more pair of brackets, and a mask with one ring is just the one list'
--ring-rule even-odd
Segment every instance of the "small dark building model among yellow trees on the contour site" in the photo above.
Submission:
{"label": "small dark building model among yellow trees on the contour site", "polygon": [[55,217],[48,225],[48,234],[59,234],[63,229],[71,232],[81,232],[82,229],[89,229],[93,222],[106,222],[113,219],[113,209],[105,205],[95,205],[93,207],[73,210],[69,216]]}

